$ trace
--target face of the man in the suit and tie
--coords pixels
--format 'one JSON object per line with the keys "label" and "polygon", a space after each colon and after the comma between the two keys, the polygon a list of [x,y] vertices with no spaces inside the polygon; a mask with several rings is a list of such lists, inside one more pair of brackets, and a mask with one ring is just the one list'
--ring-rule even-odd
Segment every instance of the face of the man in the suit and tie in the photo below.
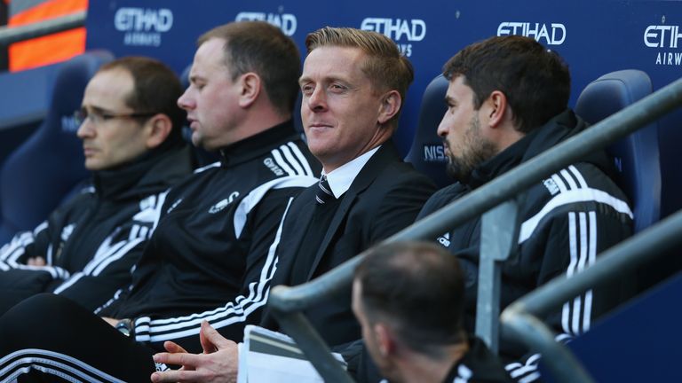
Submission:
{"label": "face of the man in the suit and tie", "polygon": [[382,95],[361,71],[365,57],[358,48],[323,46],[305,59],[301,117],[308,147],[327,172],[391,135],[378,124]]}

